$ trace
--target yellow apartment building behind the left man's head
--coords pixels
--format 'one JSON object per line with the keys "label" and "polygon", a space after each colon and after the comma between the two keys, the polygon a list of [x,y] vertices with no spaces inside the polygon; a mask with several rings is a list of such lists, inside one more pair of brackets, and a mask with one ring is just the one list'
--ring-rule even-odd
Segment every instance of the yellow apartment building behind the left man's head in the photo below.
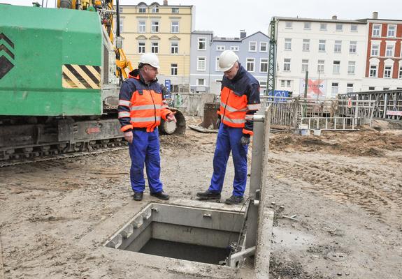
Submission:
{"label": "yellow apartment building behind the left man's head", "polygon": [[194,6],[171,6],[168,1],[140,2],[120,6],[123,47],[136,66],[140,56],[152,52],[159,56],[160,83],[168,80],[173,90],[189,84],[190,40],[194,29]]}

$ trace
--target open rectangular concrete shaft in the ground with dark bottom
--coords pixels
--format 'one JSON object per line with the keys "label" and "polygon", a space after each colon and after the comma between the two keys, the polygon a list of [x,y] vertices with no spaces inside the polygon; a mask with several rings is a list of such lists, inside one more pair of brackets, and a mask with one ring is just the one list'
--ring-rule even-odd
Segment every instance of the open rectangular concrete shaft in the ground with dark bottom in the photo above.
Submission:
{"label": "open rectangular concrete shaft in the ground with dark bottom", "polygon": [[222,264],[237,246],[244,213],[148,204],[106,247],[193,262]]}

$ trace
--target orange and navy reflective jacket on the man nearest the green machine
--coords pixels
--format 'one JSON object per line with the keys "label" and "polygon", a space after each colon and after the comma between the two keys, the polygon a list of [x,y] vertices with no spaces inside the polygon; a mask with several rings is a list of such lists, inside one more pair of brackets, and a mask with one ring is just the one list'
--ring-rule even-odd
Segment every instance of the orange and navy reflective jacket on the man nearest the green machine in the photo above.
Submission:
{"label": "orange and navy reflective jacket on the man nearest the green machine", "polygon": [[122,132],[135,128],[146,128],[152,132],[161,123],[161,118],[172,113],[168,110],[161,86],[157,80],[146,84],[138,69],[129,73],[119,94],[119,121]]}

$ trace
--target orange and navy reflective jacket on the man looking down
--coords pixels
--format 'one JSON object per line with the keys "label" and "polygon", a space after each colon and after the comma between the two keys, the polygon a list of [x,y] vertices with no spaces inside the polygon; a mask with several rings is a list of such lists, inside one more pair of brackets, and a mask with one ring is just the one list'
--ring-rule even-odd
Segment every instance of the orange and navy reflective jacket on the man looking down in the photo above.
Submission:
{"label": "orange and navy reflective jacket on the man looking down", "polygon": [[223,77],[220,92],[220,114],[224,125],[243,128],[243,134],[252,135],[251,116],[259,110],[259,82],[239,65],[233,80]]}

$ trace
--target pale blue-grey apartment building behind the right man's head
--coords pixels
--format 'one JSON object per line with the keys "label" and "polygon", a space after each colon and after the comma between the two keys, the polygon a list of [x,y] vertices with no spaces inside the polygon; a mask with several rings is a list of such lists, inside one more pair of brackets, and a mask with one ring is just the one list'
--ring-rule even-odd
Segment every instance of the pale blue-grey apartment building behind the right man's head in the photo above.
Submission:
{"label": "pale blue-grey apartment building behind the right man's head", "polygon": [[260,31],[247,36],[241,30],[238,38],[216,37],[213,31],[193,31],[190,89],[219,94],[223,77],[218,66],[219,56],[224,50],[233,50],[243,67],[259,80],[261,93],[264,93],[268,76],[268,42],[268,36]]}

